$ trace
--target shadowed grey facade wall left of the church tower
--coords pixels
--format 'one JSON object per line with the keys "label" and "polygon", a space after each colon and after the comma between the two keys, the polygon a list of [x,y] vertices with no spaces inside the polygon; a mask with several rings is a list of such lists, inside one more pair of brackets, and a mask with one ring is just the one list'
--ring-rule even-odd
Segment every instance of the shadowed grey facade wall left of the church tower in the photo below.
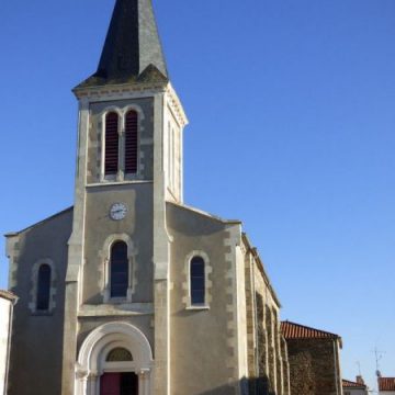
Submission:
{"label": "shadowed grey facade wall left of the church tower", "polygon": [[[19,295],[14,308],[9,395],[45,394],[48,387],[60,387],[67,242],[71,223],[72,210],[69,208],[7,237],[10,286]],[[32,303],[37,289],[37,262],[44,264],[48,260],[54,262],[53,275],[57,279],[50,290],[52,308],[36,312]],[[30,383],[35,383],[34,387]]]}

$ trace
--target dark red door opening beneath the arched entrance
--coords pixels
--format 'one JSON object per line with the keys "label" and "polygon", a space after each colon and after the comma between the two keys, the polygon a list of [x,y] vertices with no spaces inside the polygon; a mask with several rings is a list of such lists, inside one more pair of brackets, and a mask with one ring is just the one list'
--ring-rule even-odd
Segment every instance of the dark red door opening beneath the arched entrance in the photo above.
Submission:
{"label": "dark red door opening beneath the arched entrance", "polygon": [[100,395],[138,395],[135,373],[104,373],[100,379]]}

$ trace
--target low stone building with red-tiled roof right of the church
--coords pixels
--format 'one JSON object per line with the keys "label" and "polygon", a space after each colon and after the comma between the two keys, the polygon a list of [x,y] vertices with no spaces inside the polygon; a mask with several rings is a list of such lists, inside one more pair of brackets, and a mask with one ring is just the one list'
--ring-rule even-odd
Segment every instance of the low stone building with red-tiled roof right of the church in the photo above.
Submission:
{"label": "low stone building with red-tiled roof right of the church", "polygon": [[304,325],[283,321],[292,395],[341,395],[341,338]]}

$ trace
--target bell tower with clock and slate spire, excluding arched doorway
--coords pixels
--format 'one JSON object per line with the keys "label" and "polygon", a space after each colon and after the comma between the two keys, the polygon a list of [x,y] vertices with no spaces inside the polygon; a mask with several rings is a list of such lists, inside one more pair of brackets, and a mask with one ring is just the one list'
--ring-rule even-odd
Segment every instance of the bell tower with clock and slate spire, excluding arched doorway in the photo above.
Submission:
{"label": "bell tower with clock and slate spire, excluding arched doorway", "polygon": [[[150,339],[153,393],[170,393],[170,239],[166,202],[182,203],[182,134],[151,0],[116,0],[98,70],[79,103],[66,276],[63,395],[82,393],[83,334],[128,323]],[[75,351],[74,351],[75,350]],[[88,383],[88,384],[87,384]],[[148,394],[146,388],[144,393]]]}

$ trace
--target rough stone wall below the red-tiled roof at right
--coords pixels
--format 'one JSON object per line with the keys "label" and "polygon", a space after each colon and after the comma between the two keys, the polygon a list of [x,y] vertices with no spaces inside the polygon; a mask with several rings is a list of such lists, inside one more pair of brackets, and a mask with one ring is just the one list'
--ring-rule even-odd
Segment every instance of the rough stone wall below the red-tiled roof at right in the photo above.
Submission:
{"label": "rough stone wall below the red-tiled roof at right", "polygon": [[340,394],[336,340],[289,339],[292,395]]}

